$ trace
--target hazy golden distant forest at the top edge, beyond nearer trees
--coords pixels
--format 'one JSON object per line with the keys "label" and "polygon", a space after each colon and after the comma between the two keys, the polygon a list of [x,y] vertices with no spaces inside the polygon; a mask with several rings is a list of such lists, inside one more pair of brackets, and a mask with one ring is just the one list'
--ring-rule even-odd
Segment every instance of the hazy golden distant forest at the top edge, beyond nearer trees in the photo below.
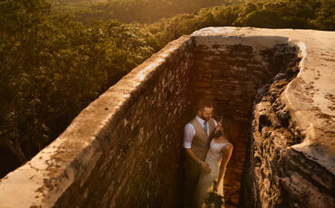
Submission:
{"label": "hazy golden distant forest at the top edge, beyond nearer trees", "polygon": [[55,11],[72,14],[82,23],[116,19],[122,23],[153,23],[162,17],[195,13],[214,5],[233,5],[241,0],[50,0]]}

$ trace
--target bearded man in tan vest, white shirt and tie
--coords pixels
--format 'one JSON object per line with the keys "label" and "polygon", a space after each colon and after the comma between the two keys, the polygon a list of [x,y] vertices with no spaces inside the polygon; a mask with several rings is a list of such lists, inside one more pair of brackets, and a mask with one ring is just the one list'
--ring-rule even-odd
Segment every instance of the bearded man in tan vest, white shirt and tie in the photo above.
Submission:
{"label": "bearded man in tan vest, white shirt and tie", "polygon": [[192,207],[193,195],[200,171],[210,173],[209,165],[204,162],[211,137],[216,133],[215,128],[222,126],[212,118],[213,104],[209,100],[197,103],[196,118],[185,126],[184,144],[186,150],[184,207]]}

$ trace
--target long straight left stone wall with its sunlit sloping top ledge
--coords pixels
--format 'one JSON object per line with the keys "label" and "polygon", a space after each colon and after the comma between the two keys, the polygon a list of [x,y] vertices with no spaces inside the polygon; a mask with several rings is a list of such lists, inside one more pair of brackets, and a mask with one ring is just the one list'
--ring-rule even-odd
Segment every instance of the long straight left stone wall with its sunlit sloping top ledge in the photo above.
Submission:
{"label": "long straight left stone wall with its sunlit sloping top ledge", "polygon": [[189,37],[168,43],[93,101],[2,179],[0,207],[180,205],[192,47]]}

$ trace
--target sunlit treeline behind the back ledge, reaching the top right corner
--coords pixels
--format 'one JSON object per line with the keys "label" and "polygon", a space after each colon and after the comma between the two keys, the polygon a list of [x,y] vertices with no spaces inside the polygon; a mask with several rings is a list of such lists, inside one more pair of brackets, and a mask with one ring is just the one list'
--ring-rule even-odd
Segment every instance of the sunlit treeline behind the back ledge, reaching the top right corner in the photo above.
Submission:
{"label": "sunlit treeline behind the back ledge, reaching the top right corner", "polygon": [[159,49],[166,43],[209,26],[254,26],[266,28],[335,29],[332,0],[253,1],[201,9],[195,14],[178,14],[146,25]]}

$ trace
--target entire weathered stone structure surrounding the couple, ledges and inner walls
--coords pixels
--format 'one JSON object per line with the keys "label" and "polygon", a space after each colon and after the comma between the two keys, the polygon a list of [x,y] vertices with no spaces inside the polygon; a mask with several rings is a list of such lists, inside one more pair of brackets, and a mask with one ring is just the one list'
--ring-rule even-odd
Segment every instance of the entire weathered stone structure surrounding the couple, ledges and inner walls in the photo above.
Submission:
{"label": "entire weathered stone structure surrounding the couple, ledges and inner walls", "polygon": [[333,32],[235,27],[168,43],[6,175],[0,207],[179,206],[184,125],[203,96],[239,123],[226,207],[331,207],[334,44]]}

